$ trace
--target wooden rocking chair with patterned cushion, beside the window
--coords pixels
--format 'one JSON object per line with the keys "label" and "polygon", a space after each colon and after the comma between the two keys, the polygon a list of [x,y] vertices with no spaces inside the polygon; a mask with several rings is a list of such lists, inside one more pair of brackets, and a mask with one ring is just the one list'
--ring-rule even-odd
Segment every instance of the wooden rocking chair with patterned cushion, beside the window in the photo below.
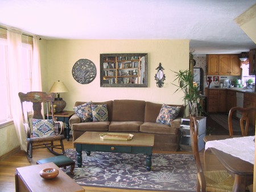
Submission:
{"label": "wooden rocking chair with patterned cushion, beside the window", "polygon": [[[26,155],[28,161],[32,160],[33,149],[47,148],[55,155],[64,154],[64,124],[63,122],[57,122],[53,113],[55,93],[32,91],[24,94],[20,92],[19,98],[22,106],[23,125],[27,136]],[[32,108],[29,103],[32,103]],[[42,106],[44,106],[44,110],[47,110],[47,114],[51,106],[52,119],[44,119]],[[53,141],[60,141],[60,144],[55,145]],[[61,149],[62,153],[57,153],[53,149]]]}

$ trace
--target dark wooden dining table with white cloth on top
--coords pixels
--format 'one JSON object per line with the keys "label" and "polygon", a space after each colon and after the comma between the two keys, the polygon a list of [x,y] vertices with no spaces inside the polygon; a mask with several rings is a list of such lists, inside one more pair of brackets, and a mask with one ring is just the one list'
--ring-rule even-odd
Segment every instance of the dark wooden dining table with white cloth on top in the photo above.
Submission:
{"label": "dark wooden dining table with white cloth on top", "polygon": [[205,143],[207,150],[234,176],[233,191],[245,191],[253,183],[255,136],[210,140]]}

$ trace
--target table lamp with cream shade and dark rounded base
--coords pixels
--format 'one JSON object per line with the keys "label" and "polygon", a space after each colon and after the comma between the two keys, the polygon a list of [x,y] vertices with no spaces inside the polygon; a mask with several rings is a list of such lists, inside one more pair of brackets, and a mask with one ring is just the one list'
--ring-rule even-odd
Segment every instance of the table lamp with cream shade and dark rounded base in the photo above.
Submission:
{"label": "table lamp with cream shade and dark rounded base", "polygon": [[54,82],[49,92],[57,93],[57,98],[55,98],[53,105],[56,105],[56,112],[62,112],[67,103],[60,97],[60,93],[68,92],[68,89],[65,86],[64,82]]}

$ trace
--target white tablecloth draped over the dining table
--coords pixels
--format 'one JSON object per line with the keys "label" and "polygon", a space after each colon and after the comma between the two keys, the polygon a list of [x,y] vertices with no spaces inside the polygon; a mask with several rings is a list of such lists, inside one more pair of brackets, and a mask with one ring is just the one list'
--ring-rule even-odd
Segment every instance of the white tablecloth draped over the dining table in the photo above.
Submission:
{"label": "white tablecloth draped over the dining table", "polygon": [[254,138],[255,136],[246,136],[234,137],[232,139],[207,141],[207,143],[205,143],[205,150],[211,147],[216,148],[220,151],[254,164]]}

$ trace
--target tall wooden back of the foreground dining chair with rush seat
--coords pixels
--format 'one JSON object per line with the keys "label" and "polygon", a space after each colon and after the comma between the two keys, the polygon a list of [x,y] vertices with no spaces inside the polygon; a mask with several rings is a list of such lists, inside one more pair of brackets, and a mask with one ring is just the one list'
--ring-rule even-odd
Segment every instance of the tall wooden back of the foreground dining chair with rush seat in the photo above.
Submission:
{"label": "tall wooden back of the foreground dining chair with rush seat", "polygon": [[200,161],[199,149],[198,149],[198,124],[195,115],[190,115],[190,137],[191,137],[191,147],[193,156],[196,161],[197,168],[197,191],[205,191],[206,181],[203,173],[203,168]]}

